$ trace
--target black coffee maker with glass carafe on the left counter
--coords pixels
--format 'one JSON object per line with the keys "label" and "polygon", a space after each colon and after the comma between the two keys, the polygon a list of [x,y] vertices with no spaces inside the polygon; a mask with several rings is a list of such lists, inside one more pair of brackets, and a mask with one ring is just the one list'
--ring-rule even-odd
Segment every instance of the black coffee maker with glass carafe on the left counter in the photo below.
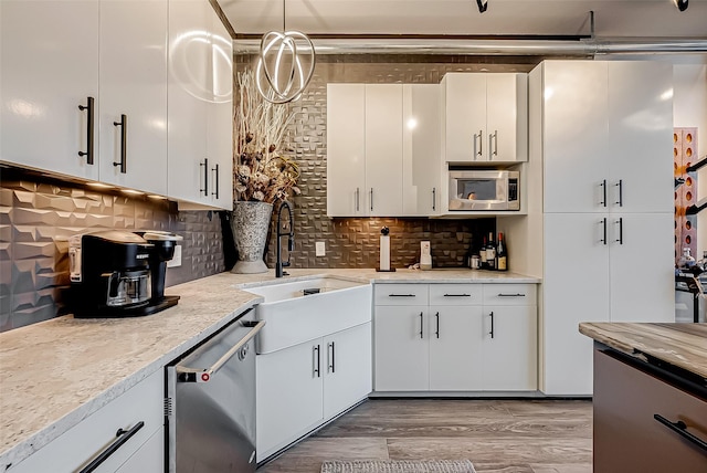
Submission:
{"label": "black coffee maker with glass carafe on the left counter", "polygon": [[154,233],[157,244],[115,230],[70,239],[70,306],[75,317],[136,317],[177,304],[179,296],[165,296],[165,273],[181,236]]}

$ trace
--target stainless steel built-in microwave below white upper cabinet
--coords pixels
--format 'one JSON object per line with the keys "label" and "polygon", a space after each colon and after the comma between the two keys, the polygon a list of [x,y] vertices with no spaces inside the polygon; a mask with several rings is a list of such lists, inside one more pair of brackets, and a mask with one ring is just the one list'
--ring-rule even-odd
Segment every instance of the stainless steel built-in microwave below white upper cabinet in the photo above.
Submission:
{"label": "stainless steel built-in microwave below white upper cabinet", "polygon": [[450,210],[520,210],[520,172],[450,170]]}

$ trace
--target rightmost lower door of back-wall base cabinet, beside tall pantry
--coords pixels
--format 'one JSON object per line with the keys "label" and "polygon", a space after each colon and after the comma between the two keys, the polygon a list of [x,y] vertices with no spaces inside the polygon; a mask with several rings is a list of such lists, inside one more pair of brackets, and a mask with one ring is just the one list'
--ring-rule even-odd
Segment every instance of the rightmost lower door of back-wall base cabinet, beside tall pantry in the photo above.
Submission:
{"label": "rightmost lower door of back-wall base cabinet, beside tall pantry", "polygon": [[536,306],[484,306],[483,324],[484,389],[490,391],[537,389]]}

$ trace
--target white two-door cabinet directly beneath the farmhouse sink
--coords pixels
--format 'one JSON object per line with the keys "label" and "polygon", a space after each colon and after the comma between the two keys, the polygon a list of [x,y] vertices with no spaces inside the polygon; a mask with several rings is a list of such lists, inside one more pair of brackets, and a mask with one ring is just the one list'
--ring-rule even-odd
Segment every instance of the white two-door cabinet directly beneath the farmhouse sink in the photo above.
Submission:
{"label": "white two-door cabinet directly beneath the farmhouse sink", "polygon": [[371,391],[371,323],[256,357],[262,461]]}

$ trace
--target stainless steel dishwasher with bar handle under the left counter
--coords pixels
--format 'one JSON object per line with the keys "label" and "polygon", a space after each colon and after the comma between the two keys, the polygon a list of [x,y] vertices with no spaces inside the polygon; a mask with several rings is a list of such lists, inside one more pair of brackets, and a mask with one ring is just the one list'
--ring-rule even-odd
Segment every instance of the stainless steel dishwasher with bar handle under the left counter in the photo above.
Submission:
{"label": "stainless steel dishwasher with bar handle under the left counter", "polygon": [[249,309],[167,367],[170,473],[255,471],[253,337],[264,324]]}

